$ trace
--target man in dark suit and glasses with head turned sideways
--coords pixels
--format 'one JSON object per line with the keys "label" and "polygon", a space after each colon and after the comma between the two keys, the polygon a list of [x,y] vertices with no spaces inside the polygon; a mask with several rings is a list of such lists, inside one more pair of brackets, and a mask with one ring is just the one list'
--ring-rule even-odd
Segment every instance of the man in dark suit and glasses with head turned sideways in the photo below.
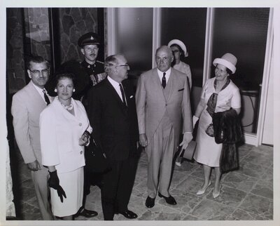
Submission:
{"label": "man in dark suit and glasses with head turned sideways", "polygon": [[104,174],[102,186],[104,220],[113,220],[115,213],[137,218],[127,209],[137,169],[139,139],[135,98],[127,79],[129,69],[123,55],[109,56],[105,60],[108,77],[88,93],[90,125],[112,168]]}

